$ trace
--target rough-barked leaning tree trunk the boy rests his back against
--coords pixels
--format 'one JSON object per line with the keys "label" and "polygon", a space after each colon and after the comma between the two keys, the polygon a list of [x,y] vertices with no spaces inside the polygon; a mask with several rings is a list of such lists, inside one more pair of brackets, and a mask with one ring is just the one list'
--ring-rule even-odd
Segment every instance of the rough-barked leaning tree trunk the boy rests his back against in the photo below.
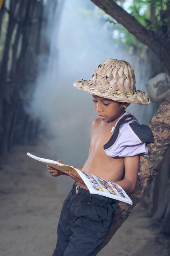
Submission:
{"label": "rough-barked leaning tree trunk the boy rests his back against", "polygon": [[[154,142],[148,144],[148,155],[140,156],[140,177],[138,178],[135,191],[130,193],[133,206],[123,202],[118,203],[113,225],[108,231],[102,248],[107,245],[117,229],[119,229],[126,218],[128,218],[130,211],[144,196],[146,189],[159,171],[161,161],[170,146],[170,95],[160,105],[159,109],[152,117],[149,126],[154,135]],[[168,218],[168,216],[166,217]]]}

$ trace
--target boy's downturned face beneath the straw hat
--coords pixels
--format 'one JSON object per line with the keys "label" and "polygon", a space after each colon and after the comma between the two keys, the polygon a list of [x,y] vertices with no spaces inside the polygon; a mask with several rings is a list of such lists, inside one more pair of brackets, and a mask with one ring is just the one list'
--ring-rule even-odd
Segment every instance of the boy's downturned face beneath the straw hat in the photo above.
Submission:
{"label": "boy's downturned face beneath the straw hat", "polygon": [[93,96],[95,110],[100,119],[105,122],[114,121],[119,118],[125,111],[129,103],[113,101],[103,97]]}

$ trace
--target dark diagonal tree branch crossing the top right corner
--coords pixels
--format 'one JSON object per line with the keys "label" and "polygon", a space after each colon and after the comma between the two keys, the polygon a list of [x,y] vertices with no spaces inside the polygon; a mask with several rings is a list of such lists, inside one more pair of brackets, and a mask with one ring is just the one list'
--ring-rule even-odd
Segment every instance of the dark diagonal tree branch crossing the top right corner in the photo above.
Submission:
{"label": "dark diagonal tree branch crossing the top right corner", "polygon": [[141,43],[144,43],[161,58],[170,76],[170,47],[166,39],[161,40],[154,31],[146,29],[131,14],[115,3],[114,0],[91,0],[99,8],[113,17],[118,23],[126,27]]}

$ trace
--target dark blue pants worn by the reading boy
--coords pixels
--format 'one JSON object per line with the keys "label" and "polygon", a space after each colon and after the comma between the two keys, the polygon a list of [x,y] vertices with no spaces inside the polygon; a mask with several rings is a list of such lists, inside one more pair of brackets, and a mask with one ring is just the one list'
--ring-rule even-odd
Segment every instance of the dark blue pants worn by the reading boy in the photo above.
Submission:
{"label": "dark blue pants worn by the reading boy", "polygon": [[53,256],[95,256],[110,228],[116,202],[90,194],[76,184],[66,197],[57,229],[57,245]]}

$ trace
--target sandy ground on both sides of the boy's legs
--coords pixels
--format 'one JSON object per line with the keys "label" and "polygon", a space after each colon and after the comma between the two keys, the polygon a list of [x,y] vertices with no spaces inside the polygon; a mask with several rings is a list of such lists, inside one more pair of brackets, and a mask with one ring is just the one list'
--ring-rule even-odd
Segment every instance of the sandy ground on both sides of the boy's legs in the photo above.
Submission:
{"label": "sandy ground on both sides of the boy's legs", "polygon": [[[51,256],[68,177],[51,177],[26,156],[43,147],[18,146],[0,159],[0,256]],[[170,237],[159,233],[139,203],[99,256],[169,256]]]}

